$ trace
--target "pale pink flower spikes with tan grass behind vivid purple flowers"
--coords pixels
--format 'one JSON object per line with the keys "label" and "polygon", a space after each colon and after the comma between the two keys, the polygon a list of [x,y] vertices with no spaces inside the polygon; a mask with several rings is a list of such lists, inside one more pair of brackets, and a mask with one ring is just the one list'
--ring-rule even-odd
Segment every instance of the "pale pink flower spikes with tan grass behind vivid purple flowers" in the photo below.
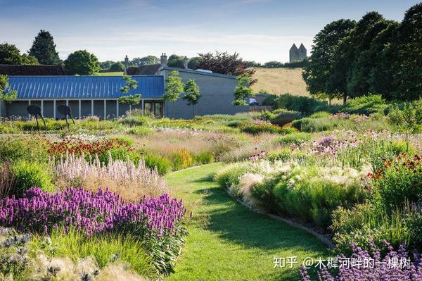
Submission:
{"label": "pale pink flower spikes with tan grass behind vivid purple flowers", "polygon": [[85,161],[84,156],[67,154],[53,164],[56,184],[65,187],[85,187],[97,190],[99,187],[118,192],[129,201],[139,200],[142,196],[160,195],[167,192],[165,179],[157,168],[148,168],[140,160],[137,166],[129,160],[113,160],[102,164],[98,157]]}

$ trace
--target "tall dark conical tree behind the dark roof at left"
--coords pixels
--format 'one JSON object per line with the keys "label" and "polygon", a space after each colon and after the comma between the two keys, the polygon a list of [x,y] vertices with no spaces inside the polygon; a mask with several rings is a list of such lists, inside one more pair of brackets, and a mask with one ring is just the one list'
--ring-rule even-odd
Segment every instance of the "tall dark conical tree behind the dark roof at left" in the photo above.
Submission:
{"label": "tall dark conical tree behind the dark roof at left", "polygon": [[57,64],[60,62],[56,44],[50,32],[41,30],[35,37],[30,49],[30,56],[37,58],[41,64]]}

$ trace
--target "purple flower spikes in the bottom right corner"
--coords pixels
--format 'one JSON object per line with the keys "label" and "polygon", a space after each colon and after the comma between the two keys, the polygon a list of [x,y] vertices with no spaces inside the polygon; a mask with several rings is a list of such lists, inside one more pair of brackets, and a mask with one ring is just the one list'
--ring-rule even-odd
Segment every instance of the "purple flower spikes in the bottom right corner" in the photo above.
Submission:
{"label": "purple flower spikes in the bottom right corner", "polygon": [[[335,261],[339,267],[337,276],[328,273],[326,266],[319,272],[319,280],[321,281],[340,281],[340,280],[406,280],[416,281],[422,278],[421,259],[417,253],[414,254],[414,261],[410,260],[407,250],[404,246],[400,246],[398,251],[388,245],[388,253],[382,258],[380,250],[373,247],[371,251],[364,251],[359,246],[352,245],[352,256],[346,258],[343,254],[339,255]],[[360,261],[360,266],[352,266],[350,261]],[[364,266],[369,261],[369,265]],[[392,261],[397,261],[392,266]],[[342,266],[347,263],[347,266]],[[325,264],[325,263],[323,263]],[[335,276],[335,277],[333,277]],[[304,266],[300,268],[301,281],[311,281]]]}

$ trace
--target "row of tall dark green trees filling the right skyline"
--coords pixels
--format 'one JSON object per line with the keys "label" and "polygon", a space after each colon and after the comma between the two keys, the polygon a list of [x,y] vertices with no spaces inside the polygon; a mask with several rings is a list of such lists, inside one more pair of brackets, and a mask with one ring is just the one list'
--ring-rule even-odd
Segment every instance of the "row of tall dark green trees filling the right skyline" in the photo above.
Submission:
{"label": "row of tall dark green trees filling the right skyline", "polygon": [[335,20],[314,37],[302,77],[311,94],[347,99],[381,94],[387,100],[422,96],[422,3],[401,22],[380,13]]}

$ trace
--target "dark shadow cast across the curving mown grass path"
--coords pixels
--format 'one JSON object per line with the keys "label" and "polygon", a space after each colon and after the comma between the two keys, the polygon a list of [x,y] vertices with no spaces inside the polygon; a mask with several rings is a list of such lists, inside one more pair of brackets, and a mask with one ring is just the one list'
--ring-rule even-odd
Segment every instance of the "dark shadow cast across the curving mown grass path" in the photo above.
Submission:
{"label": "dark shadow cast across the curving mown grass path", "polygon": [[207,210],[207,229],[221,233],[224,239],[261,249],[326,250],[314,236],[248,210],[219,187],[200,189],[195,193],[203,194],[204,204],[215,206]]}

